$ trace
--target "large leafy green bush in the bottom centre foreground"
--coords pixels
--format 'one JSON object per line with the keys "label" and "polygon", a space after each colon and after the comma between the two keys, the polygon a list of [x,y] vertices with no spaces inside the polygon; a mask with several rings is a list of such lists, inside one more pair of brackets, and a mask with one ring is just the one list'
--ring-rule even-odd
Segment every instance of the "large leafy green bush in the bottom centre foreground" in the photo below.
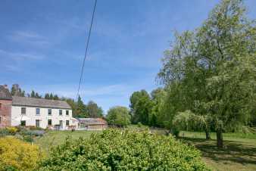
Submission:
{"label": "large leafy green bush in the bottom centre foreground", "polygon": [[172,137],[108,129],[52,149],[39,170],[207,170],[199,151]]}

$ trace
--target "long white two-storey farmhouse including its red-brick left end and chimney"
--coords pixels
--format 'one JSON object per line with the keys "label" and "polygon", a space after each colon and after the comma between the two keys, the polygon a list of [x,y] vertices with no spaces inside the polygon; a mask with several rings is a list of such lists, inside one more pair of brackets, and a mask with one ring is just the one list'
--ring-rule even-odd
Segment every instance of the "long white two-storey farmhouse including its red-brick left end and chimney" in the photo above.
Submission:
{"label": "long white two-storey farmhouse including its red-brick left end and chimney", "polygon": [[76,124],[66,101],[11,96],[5,86],[0,86],[0,127],[21,125],[69,129]]}

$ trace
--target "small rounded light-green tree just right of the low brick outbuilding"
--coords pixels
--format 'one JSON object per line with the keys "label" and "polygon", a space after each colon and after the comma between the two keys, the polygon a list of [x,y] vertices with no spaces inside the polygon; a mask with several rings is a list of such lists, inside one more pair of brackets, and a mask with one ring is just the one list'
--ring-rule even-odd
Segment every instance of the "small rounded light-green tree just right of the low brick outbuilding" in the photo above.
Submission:
{"label": "small rounded light-green tree just right of the low brick outbuilding", "polygon": [[114,126],[128,126],[131,123],[130,111],[126,107],[111,107],[108,110],[108,124]]}

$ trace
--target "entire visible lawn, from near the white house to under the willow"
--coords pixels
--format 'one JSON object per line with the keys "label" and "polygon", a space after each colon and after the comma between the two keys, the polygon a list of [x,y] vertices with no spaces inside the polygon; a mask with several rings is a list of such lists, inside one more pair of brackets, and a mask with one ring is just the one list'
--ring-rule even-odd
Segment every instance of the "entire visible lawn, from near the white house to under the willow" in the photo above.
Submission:
{"label": "entire visible lawn, from near the white house to under the willow", "polygon": [[[147,129],[142,126],[129,126],[129,129]],[[164,134],[164,129],[150,129],[159,135]],[[92,133],[101,131],[49,131],[40,138],[35,139],[35,144],[48,151],[51,145],[60,145],[65,138],[89,138]],[[216,148],[216,135],[211,133],[211,141],[205,140],[204,132],[180,132],[179,138],[189,145],[195,145],[201,151],[204,162],[213,170],[256,170],[256,135],[238,133],[224,133],[225,148]]]}

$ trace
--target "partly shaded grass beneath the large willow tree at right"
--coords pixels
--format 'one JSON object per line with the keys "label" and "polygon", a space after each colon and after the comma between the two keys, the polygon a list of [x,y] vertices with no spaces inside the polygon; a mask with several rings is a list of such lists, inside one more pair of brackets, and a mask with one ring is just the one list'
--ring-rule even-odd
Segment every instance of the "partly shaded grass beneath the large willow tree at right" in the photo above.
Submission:
{"label": "partly shaded grass beneath the large willow tree at right", "polygon": [[225,148],[216,148],[216,134],[205,140],[204,132],[180,132],[180,141],[195,145],[205,163],[213,170],[256,170],[256,135],[224,133]]}

